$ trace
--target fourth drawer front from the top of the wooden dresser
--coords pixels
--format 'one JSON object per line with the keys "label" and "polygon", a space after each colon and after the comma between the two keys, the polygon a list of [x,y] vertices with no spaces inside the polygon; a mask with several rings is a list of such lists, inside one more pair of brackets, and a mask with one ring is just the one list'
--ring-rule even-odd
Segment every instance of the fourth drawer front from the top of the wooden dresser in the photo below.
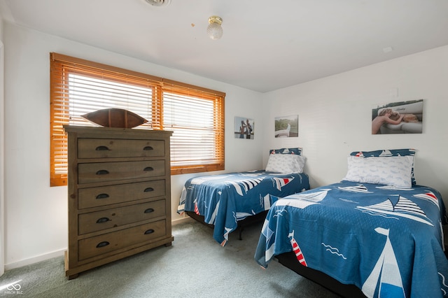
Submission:
{"label": "fourth drawer front from the top of the wooden dresser", "polygon": [[78,215],[80,235],[165,215],[165,199]]}

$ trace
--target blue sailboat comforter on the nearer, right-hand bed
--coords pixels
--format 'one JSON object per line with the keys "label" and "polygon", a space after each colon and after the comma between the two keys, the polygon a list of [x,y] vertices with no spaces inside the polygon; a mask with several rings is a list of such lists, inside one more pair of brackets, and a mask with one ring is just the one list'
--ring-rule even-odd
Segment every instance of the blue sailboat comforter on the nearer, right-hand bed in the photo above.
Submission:
{"label": "blue sailboat comforter on the nearer, right-hand bed", "polygon": [[437,190],[343,180],[278,199],[255,261],[294,251],[297,262],[354,284],[367,297],[444,297],[448,261]]}

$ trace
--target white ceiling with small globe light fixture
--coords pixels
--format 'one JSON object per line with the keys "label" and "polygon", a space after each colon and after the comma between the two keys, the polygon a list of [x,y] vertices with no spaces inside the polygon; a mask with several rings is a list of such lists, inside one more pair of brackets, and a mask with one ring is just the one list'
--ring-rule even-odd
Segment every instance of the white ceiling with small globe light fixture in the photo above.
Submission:
{"label": "white ceiling with small globe light fixture", "polygon": [[[22,27],[258,92],[448,45],[448,0],[0,0],[0,11]],[[218,41],[207,36],[211,15],[223,18]]]}

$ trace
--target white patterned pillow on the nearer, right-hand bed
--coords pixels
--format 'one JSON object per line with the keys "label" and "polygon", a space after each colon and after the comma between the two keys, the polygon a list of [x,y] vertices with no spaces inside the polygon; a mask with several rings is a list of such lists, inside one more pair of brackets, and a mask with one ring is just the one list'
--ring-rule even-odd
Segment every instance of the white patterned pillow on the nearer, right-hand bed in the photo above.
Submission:
{"label": "white patterned pillow on the nearer, right-hand bed", "polygon": [[349,156],[349,169],[344,180],[360,183],[385,184],[410,188],[414,157],[356,157]]}

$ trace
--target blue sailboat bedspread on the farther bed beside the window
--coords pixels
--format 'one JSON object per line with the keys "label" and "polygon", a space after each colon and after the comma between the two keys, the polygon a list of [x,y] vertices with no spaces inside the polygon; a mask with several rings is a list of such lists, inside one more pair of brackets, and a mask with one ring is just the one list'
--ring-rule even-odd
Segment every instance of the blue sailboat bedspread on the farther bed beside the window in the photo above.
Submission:
{"label": "blue sailboat bedspread on the farther bed beside the window", "polygon": [[214,239],[225,246],[238,220],[269,210],[276,197],[303,190],[309,190],[305,173],[260,170],[200,176],[185,183],[178,213],[194,211],[203,215],[205,222],[214,225]]}

